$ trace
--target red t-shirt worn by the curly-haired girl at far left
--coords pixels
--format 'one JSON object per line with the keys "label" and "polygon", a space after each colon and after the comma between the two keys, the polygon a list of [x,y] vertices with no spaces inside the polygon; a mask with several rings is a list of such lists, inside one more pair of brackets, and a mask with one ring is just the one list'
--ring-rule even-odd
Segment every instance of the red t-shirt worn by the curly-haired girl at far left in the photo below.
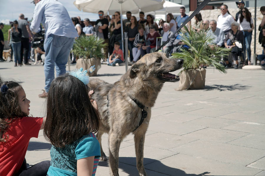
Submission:
{"label": "red t-shirt worn by the curly-haired girl at far left", "polygon": [[12,176],[19,171],[29,145],[29,139],[37,138],[42,118],[20,117],[9,124],[9,139],[0,143],[0,175]]}

